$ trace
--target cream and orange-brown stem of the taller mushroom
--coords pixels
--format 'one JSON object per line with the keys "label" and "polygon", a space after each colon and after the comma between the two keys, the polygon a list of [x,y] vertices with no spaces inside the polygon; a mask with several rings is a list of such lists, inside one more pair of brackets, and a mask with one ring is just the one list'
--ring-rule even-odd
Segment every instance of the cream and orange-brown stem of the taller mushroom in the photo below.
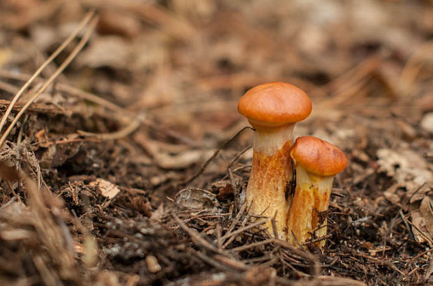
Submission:
{"label": "cream and orange-brown stem of the taller mushroom", "polygon": [[[293,179],[289,151],[295,124],[258,128],[254,133],[254,155],[245,200],[249,210],[275,218],[279,239],[286,239],[287,213],[291,204],[288,184]],[[265,227],[272,229],[272,222]]]}

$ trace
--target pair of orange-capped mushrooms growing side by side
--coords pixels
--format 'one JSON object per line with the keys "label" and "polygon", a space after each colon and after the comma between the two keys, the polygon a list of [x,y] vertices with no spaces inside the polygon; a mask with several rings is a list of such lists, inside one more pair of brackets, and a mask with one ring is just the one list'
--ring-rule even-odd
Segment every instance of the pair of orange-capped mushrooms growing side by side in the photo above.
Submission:
{"label": "pair of orange-capped mushrooms growing side by side", "polygon": [[292,84],[272,82],[247,91],[237,110],[256,130],[245,196],[249,212],[274,218],[275,229],[270,221],[266,229],[293,246],[315,240],[323,247],[332,181],[347,160],[316,137],[299,137],[293,144],[295,123],[309,116],[311,100]]}

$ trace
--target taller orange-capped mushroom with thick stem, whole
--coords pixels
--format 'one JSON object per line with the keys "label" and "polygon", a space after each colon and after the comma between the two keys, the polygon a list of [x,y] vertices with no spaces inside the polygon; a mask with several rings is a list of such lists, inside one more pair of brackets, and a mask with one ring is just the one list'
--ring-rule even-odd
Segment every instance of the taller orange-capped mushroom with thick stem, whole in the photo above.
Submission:
{"label": "taller orange-capped mushroom with thick stem, whole", "polygon": [[[254,133],[254,155],[245,201],[249,213],[275,217],[280,239],[287,236],[287,214],[291,205],[288,184],[293,179],[289,150],[293,128],[311,112],[311,100],[292,84],[260,84],[244,94],[237,105]],[[265,227],[272,234],[272,222]]]}

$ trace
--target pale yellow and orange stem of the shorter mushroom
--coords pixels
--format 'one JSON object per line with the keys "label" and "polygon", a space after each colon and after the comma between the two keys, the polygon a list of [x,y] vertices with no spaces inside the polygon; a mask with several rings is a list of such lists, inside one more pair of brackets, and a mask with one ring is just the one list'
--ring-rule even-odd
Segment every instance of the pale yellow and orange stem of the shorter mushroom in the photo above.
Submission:
{"label": "pale yellow and orange stem of the shorter mushroom", "polygon": [[[298,246],[311,239],[326,235],[330,193],[334,176],[318,176],[307,172],[301,165],[296,166],[296,190],[288,214],[288,241]],[[298,242],[297,242],[298,241]],[[316,242],[323,248],[325,240]]]}

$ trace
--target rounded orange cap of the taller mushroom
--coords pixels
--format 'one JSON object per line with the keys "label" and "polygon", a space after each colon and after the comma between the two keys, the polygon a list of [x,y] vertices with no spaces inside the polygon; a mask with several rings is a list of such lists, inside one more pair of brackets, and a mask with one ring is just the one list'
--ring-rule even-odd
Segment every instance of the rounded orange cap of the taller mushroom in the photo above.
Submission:
{"label": "rounded orange cap of the taller mushroom", "polygon": [[311,100],[293,84],[270,82],[249,89],[237,103],[237,111],[254,127],[279,127],[306,119]]}

